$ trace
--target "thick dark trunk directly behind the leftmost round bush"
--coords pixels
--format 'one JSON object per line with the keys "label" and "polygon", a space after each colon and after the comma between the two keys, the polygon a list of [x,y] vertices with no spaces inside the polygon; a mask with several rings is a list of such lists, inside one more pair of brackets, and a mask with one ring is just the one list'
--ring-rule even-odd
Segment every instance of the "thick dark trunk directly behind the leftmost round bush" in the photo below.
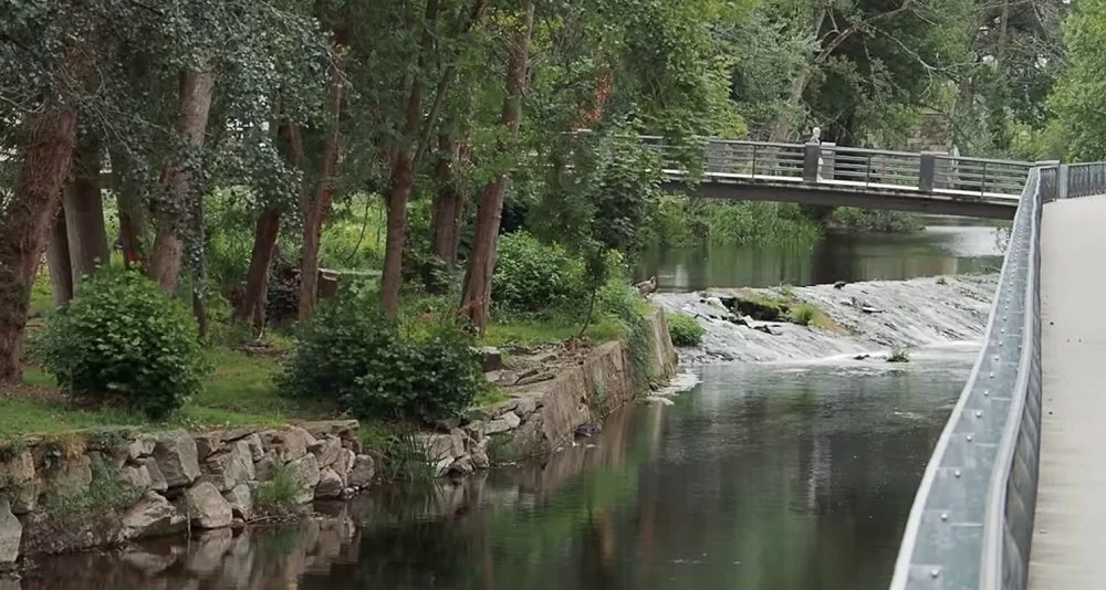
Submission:
{"label": "thick dark trunk directly behind the leftmost round bush", "polygon": [[73,158],[73,182],[62,192],[74,289],[80,288],[82,276],[109,260],[104,198],[100,188],[101,156],[98,139],[79,138]]}

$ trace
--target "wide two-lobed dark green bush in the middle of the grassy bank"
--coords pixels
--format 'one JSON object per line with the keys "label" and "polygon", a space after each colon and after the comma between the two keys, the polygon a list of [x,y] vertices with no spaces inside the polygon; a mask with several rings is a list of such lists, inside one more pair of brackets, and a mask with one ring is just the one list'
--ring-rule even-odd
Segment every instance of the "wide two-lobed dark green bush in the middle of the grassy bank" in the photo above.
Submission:
{"label": "wide two-lobed dark green bush in the middle of the grassy bank", "polygon": [[358,418],[451,418],[488,387],[474,344],[450,323],[406,335],[374,294],[354,287],[304,326],[279,384],[293,397],[337,401]]}

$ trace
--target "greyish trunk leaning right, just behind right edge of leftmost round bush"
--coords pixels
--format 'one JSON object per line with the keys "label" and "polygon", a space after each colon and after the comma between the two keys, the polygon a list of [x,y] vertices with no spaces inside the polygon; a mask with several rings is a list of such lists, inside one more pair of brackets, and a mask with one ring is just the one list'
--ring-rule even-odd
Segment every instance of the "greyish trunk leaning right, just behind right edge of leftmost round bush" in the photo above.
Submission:
{"label": "greyish trunk leaning right, just behind right edge of leftmost round bush", "polygon": [[191,210],[190,201],[197,198],[192,196],[192,167],[204,148],[213,91],[215,73],[206,65],[180,74],[177,131],[181,144],[171,151],[163,173],[165,199],[158,206],[157,236],[149,260],[149,274],[166,293],[177,291],[184,252],[181,233]]}

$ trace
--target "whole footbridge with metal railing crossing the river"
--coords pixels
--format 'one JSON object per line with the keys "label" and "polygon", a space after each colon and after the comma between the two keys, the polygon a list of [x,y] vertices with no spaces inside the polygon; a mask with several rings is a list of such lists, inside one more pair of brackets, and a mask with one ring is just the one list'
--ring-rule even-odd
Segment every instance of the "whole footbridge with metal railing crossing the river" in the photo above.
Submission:
{"label": "whole footbridge with metal railing crossing the river", "polygon": [[833,144],[643,140],[660,152],[664,188],[672,192],[992,219],[1013,219],[1022,187],[1037,166]]}

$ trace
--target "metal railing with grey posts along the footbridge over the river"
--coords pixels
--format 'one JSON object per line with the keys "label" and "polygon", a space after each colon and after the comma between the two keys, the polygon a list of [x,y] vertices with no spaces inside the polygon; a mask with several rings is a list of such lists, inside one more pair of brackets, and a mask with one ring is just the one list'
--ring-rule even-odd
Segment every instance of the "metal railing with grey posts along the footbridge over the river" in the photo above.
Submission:
{"label": "metal railing with grey posts along the footbridge over the river", "polygon": [[[641,141],[661,156],[669,177],[697,177],[707,182],[742,179],[794,181],[863,188],[904,189],[951,196],[1021,194],[1032,162],[969,158],[922,151],[889,151],[833,144],[774,144],[730,139],[696,139],[666,144],[657,136]],[[697,159],[702,170],[689,170]]]}

